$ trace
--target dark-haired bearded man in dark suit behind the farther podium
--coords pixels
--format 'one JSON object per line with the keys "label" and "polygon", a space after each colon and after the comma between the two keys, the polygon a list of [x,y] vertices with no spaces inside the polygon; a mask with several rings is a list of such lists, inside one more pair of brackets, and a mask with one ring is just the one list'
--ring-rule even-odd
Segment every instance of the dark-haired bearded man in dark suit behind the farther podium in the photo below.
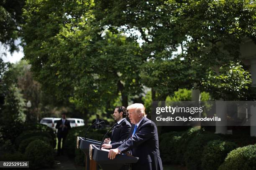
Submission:
{"label": "dark-haired bearded man in dark suit behind the farther podium", "polygon": [[117,121],[117,125],[119,125],[122,122],[125,122],[126,125],[121,126],[117,129],[114,129],[111,133],[110,138],[106,138],[104,140],[104,143],[107,143],[107,144],[116,143],[116,142],[120,142],[121,140],[125,140],[128,137],[131,131],[131,123],[126,120],[127,114],[128,112],[125,107],[123,106],[115,107],[113,117],[115,121]]}

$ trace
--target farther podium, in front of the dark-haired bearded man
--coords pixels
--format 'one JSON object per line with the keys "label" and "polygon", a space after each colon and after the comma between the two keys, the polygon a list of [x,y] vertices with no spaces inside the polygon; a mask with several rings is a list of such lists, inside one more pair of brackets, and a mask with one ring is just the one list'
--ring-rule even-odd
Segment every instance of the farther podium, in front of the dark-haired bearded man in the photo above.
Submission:
{"label": "farther podium, in front of the dark-haired bearded man", "polygon": [[97,169],[96,162],[93,160],[90,160],[89,149],[90,149],[91,144],[100,145],[100,143],[101,142],[97,141],[97,140],[85,139],[85,138],[77,136],[77,148],[79,148],[80,150],[82,150],[84,152],[85,159],[86,159],[86,161],[85,161],[85,164],[86,164],[85,169],[86,170],[90,170],[90,167],[91,167],[91,169]]}

